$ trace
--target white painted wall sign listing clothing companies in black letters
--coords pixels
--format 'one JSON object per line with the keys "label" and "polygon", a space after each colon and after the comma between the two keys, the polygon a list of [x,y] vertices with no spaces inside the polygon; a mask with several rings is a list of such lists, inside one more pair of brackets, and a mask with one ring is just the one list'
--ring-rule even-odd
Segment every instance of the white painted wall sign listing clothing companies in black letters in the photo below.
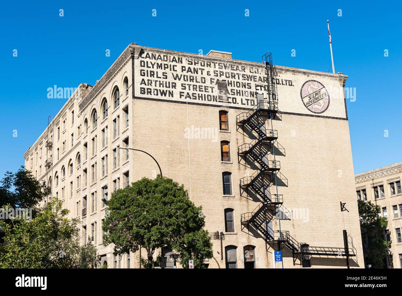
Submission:
{"label": "white painted wall sign listing clothing companies in black letters", "polygon": [[[274,85],[281,112],[306,115],[325,112],[322,116],[346,118],[338,76],[275,67]],[[254,108],[257,93],[268,99],[267,74],[261,63],[144,48],[134,61],[134,76],[138,98],[237,109]]]}

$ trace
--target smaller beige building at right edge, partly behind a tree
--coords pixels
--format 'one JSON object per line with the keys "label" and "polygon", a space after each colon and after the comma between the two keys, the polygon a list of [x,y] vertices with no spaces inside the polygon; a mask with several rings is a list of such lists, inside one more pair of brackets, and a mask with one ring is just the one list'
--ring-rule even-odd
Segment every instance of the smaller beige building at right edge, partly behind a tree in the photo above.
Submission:
{"label": "smaller beige building at right edge, partly behind a tree", "polygon": [[[355,175],[357,199],[371,201],[380,206],[378,215],[388,218],[387,232],[391,238],[390,263],[393,268],[402,268],[401,176],[402,162]],[[363,239],[363,245],[368,243]]]}

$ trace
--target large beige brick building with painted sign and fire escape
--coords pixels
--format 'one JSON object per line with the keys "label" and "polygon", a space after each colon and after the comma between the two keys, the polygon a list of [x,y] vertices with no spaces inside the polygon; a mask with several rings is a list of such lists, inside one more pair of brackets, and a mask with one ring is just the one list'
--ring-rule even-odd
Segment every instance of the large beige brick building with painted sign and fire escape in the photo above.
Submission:
{"label": "large beige brick building with painted sign and fire escape", "polygon": [[[364,267],[347,76],[271,61],[131,43],[93,87],[80,84],[25,166],[82,220],[82,242],[89,235],[109,267],[138,267],[138,254],[115,258],[102,244],[102,198],[159,173],[146,154],[118,146],[150,153],[203,206],[209,268],[279,268],[278,246],[285,268],[345,268],[346,255]],[[224,234],[223,252],[213,232]]]}

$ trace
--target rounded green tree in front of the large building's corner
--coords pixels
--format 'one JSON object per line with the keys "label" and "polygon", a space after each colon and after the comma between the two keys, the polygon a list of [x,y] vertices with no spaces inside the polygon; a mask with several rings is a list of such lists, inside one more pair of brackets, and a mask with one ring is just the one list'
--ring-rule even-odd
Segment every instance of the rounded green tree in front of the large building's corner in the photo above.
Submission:
{"label": "rounded green tree in front of the large building's corner", "polygon": [[183,185],[160,175],[113,192],[103,223],[105,243],[115,245],[115,255],[146,249],[146,259],[139,258],[146,268],[159,266],[161,257],[154,260],[154,252],[164,246],[178,250],[184,267],[194,259],[194,266],[203,268],[204,259],[212,258],[212,243],[202,208],[186,193]]}

